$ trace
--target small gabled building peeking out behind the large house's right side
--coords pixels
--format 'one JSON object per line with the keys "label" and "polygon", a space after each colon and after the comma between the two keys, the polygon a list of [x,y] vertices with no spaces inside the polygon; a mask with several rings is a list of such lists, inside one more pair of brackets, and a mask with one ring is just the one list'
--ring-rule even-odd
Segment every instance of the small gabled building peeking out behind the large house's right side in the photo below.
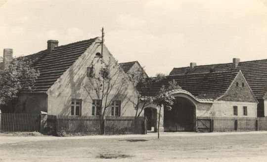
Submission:
{"label": "small gabled building peeking out behind the large house's right side", "polygon": [[148,77],[148,75],[146,74],[143,67],[139,64],[138,61],[120,63],[119,65],[122,66],[124,72],[126,72],[128,75],[136,75],[137,73],[141,73],[144,78]]}

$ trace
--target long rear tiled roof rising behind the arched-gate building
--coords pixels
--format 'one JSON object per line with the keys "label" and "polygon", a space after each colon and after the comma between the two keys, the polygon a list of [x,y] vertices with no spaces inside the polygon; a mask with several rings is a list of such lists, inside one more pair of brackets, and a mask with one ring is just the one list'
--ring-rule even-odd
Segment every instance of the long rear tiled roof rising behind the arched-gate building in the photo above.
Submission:
{"label": "long rear tiled roof rising behind the arched-gate building", "polygon": [[235,69],[232,68],[232,63],[198,65],[192,70],[190,67],[179,67],[174,68],[170,75],[209,73],[211,68],[215,71],[242,70],[256,98],[263,98],[267,93],[267,59],[240,62]]}

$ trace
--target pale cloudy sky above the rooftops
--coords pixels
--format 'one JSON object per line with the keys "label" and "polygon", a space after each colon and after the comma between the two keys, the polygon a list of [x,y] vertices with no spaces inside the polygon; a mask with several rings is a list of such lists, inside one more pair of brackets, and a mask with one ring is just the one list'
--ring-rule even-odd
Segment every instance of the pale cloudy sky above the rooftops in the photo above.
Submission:
{"label": "pale cloudy sky above the rooftops", "polygon": [[[0,0],[0,50],[13,56],[105,31],[119,63],[174,67],[267,59],[267,0]],[[1,55],[0,55],[1,56]]]}

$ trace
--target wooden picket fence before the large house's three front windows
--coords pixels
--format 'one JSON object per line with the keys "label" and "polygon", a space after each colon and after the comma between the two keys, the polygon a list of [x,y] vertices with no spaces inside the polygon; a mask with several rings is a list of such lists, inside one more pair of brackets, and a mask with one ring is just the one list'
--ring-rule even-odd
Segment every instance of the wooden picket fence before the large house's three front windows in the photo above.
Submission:
{"label": "wooden picket fence before the large house's three front windows", "polygon": [[47,126],[67,134],[146,134],[145,117],[47,116]]}

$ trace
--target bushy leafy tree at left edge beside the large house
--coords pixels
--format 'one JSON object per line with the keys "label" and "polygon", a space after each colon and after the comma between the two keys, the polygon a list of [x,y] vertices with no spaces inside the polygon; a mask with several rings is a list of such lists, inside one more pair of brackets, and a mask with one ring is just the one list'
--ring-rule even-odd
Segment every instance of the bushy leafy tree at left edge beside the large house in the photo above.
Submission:
{"label": "bushy leafy tree at left edge beside the large house", "polygon": [[35,80],[39,71],[30,66],[31,61],[23,57],[14,58],[4,70],[0,70],[0,105],[10,104],[12,110],[21,92],[35,90]]}

